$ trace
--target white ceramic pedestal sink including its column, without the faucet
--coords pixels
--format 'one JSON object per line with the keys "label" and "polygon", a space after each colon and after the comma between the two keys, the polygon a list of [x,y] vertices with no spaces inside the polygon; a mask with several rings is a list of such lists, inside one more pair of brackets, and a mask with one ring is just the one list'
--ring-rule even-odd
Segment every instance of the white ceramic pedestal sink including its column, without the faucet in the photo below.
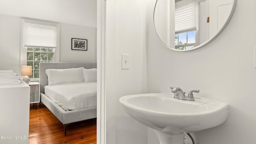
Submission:
{"label": "white ceramic pedestal sink including its column, without the faucet", "polygon": [[[178,100],[172,93],[122,96],[119,102],[138,122],[154,129],[160,144],[183,144],[186,133],[222,124],[229,105],[208,98]],[[176,137],[176,138],[173,138]]]}

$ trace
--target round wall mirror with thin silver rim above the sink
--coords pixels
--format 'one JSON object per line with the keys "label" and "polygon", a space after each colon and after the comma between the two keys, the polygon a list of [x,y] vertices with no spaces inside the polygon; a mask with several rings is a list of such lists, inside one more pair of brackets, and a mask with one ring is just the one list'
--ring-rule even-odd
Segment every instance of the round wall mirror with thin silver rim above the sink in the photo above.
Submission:
{"label": "round wall mirror with thin silver rim above the sink", "polygon": [[228,25],[236,0],[156,0],[154,28],[168,48],[202,48]]}

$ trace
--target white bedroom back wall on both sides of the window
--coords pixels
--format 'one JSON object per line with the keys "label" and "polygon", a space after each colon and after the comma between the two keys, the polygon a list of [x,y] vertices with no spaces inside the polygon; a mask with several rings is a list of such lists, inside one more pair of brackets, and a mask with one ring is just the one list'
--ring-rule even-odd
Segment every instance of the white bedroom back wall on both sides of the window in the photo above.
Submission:
{"label": "white bedroom back wall on both sides of the window", "polygon": [[[71,50],[71,38],[88,39],[88,50]],[[60,24],[60,62],[96,62],[96,28]],[[0,70],[20,74],[20,18],[0,14]]]}

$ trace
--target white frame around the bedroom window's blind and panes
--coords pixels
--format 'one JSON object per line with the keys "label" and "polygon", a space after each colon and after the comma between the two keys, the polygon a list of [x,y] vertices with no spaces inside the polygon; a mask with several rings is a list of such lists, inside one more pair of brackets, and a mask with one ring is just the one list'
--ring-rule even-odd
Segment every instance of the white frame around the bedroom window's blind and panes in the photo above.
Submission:
{"label": "white frame around the bedroom window's blind and panes", "polygon": [[[20,19],[20,66],[27,65],[27,48],[24,46],[24,24],[25,23],[33,23],[33,24],[40,24],[40,25],[50,25],[56,26],[57,28],[57,44],[53,56],[53,62],[60,62],[60,24],[56,22],[49,22],[43,20],[35,20],[30,18],[21,18]],[[30,78],[32,81],[39,80],[39,78]]]}

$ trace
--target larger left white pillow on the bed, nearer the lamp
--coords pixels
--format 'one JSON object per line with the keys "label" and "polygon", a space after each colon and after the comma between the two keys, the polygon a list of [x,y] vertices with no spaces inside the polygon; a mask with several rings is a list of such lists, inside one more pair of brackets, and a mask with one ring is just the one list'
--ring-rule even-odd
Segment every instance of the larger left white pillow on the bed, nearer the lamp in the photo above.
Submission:
{"label": "larger left white pillow on the bed, nearer the lamp", "polygon": [[81,68],[47,69],[48,85],[63,84],[69,82],[83,82]]}

